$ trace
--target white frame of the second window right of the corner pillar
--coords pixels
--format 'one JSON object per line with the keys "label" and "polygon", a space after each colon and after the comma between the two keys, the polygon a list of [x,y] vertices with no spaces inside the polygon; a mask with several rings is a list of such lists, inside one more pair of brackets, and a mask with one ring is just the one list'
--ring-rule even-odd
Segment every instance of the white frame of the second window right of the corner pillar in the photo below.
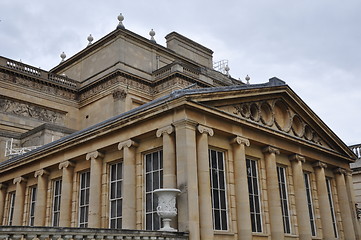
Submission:
{"label": "white frame of the second window right of the corner pillar", "polygon": [[[251,174],[249,175],[249,170],[248,170],[248,165],[250,167],[251,163],[254,163],[254,171],[252,171],[251,169]],[[250,205],[250,218],[251,218],[251,227],[252,227],[252,232],[253,233],[262,233],[263,232],[263,219],[262,219],[262,196],[261,196],[261,186],[260,186],[260,176],[259,176],[259,160],[256,159],[252,159],[249,157],[246,157],[246,174],[247,174],[247,185],[248,185],[248,196],[249,199],[252,201],[249,201],[249,205]],[[251,178],[251,179],[250,179]],[[250,183],[252,183],[252,186],[250,186]],[[257,188],[254,188],[253,184],[256,183],[257,184]],[[257,190],[257,194],[254,194],[254,192],[250,193],[250,189],[253,190]],[[257,201],[255,201],[257,200]],[[253,206],[252,206],[252,203]],[[256,210],[256,204],[258,203],[258,211],[253,211],[252,209]],[[253,214],[253,217],[252,217]]]}

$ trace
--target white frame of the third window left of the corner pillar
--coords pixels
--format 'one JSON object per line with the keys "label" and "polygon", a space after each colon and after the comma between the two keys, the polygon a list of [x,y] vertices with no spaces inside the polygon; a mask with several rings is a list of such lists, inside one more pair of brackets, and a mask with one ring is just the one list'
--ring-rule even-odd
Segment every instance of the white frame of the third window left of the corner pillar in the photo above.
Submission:
{"label": "white frame of the third window left of the corner pillar", "polygon": [[[85,176],[83,178],[83,176]],[[78,227],[87,228],[89,223],[89,193],[90,193],[90,171],[79,173],[79,198],[78,198]],[[82,187],[83,180],[85,180],[85,186]],[[82,193],[84,193],[84,203],[82,203]],[[82,210],[84,209],[84,212]],[[84,213],[84,219],[82,219],[82,213]],[[82,221],[83,220],[83,221]]]}

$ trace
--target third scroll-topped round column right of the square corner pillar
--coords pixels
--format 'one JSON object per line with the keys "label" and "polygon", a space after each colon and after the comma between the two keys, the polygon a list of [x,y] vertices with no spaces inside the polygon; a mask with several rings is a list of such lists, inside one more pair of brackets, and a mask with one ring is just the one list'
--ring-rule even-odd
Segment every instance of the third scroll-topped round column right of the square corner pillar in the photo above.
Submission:
{"label": "third scroll-topped round column right of the square corner pillar", "polygon": [[280,190],[276,165],[276,154],[280,154],[277,148],[267,146],[262,149],[266,162],[268,210],[271,224],[271,238],[284,239],[283,218],[281,209]]}

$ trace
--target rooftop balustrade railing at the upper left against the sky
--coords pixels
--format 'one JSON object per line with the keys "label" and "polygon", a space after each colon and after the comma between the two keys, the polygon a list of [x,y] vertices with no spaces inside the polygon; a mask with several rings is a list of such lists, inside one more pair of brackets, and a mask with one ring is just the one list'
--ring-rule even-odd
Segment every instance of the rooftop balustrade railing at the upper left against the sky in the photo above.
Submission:
{"label": "rooftop balustrade railing at the upper left against the sky", "polygon": [[12,69],[14,71],[18,71],[24,74],[28,74],[34,77],[39,77],[46,79],[49,82],[56,83],[58,85],[62,85],[65,87],[76,88],[78,86],[78,82],[70,79],[66,76],[57,75],[54,73],[49,73],[40,68],[36,68],[22,62],[17,62],[8,58],[0,57],[0,66]]}

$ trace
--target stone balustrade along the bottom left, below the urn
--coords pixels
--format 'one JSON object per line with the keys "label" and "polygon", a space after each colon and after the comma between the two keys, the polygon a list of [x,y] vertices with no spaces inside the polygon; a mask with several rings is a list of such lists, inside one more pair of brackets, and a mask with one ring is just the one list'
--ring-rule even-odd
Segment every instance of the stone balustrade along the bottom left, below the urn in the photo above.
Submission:
{"label": "stone balustrade along the bottom left, below the urn", "polygon": [[0,240],[90,240],[90,239],[137,239],[137,240],[188,240],[182,232],[146,230],[116,230],[105,228],[61,228],[0,226]]}

